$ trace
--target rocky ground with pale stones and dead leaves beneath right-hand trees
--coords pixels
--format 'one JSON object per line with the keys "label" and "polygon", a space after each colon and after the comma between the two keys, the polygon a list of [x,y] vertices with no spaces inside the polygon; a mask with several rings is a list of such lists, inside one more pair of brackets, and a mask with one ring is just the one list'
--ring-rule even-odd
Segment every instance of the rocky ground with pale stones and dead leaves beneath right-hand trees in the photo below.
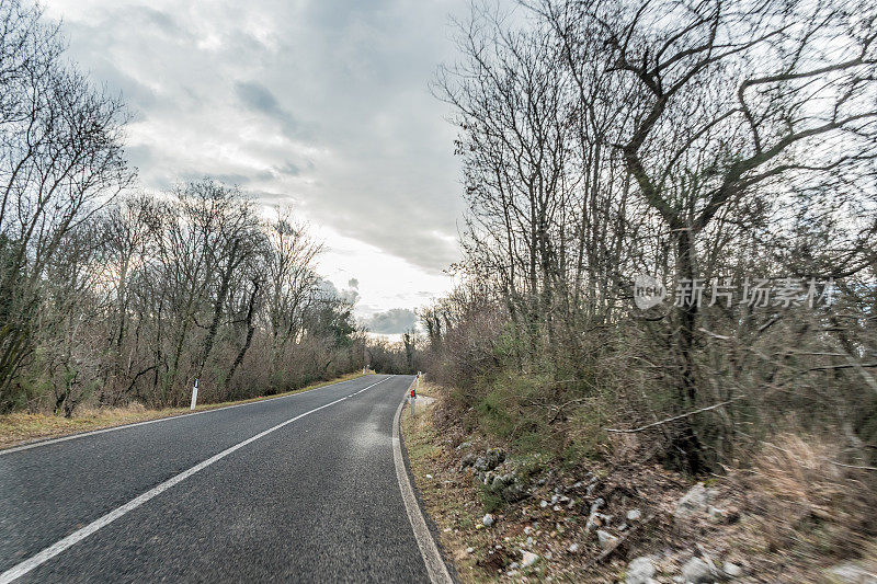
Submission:
{"label": "rocky ground with pale stones and dead leaves beneath right-hand trees", "polygon": [[438,402],[406,414],[403,436],[463,582],[877,584],[877,546],[820,552],[804,533],[789,542],[732,473],[693,483],[634,461],[560,468],[464,432],[442,415],[438,388],[423,389]]}

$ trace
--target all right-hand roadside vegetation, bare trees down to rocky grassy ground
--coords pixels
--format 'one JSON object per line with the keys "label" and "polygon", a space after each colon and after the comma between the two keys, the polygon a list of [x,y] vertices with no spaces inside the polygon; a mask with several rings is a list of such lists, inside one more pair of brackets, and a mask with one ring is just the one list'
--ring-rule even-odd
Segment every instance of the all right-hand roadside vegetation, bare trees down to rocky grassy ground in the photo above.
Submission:
{"label": "all right-hand roadside vegetation, bare trees down to rocky grassy ground", "polygon": [[525,4],[476,5],[433,88],[468,211],[460,284],[421,310],[424,465],[494,515],[476,580],[867,577],[877,12]]}

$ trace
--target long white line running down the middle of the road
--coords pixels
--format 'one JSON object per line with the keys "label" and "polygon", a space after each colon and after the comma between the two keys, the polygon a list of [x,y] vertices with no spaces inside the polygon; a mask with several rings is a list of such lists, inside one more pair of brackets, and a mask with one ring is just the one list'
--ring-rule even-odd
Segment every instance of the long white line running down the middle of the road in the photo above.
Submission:
{"label": "long white line running down the middle of the road", "polygon": [[[389,377],[385,377],[384,379],[381,379],[377,383],[372,383],[371,386],[368,386],[367,388],[363,389],[362,391],[365,391],[366,389],[371,389],[371,388],[373,388],[373,387],[375,387],[375,386],[377,386],[379,383],[383,383],[387,379],[389,379]],[[360,391],[360,393],[362,393],[362,391]],[[241,443],[238,443],[235,446],[226,448],[225,450],[223,450],[218,455],[214,455],[210,458],[204,460],[203,462],[198,462],[197,465],[195,465],[191,469],[184,470],[180,474],[176,474],[175,477],[172,477],[171,479],[168,479],[167,481],[164,481],[163,483],[159,484],[158,486],[155,486],[155,488],[150,489],[149,491],[145,492],[144,494],[141,494],[137,499],[128,501],[127,503],[125,503],[121,507],[115,508],[115,509],[111,511],[110,513],[107,513],[106,515],[104,515],[104,516],[91,522],[86,527],[83,527],[81,529],[77,529],[76,531],[73,531],[72,534],[67,536],[66,538],[61,539],[60,541],[57,541],[56,543],[53,543],[52,546],[49,546],[48,548],[44,549],[43,551],[41,551],[36,556],[33,556],[33,557],[24,560],[21,563],[16,564],[16,565],[13,565],[9,570],[7,570],[2,574],[0,574],[0,584],[9,584],[13,580],[23,576],[24,574],[26,574],[27,572],[30,572],[34,568],[38,566],[39,564],[43,564],[43,563],[47,562],[48,560],[50,560],[54,557],[56,557],[57,554],[59,554],[60,552],[62,552],[64,550],[66,550],[70,546],[73,546],[75,543],[77,543],[79,541],[82,541],[83,539],[86,539],[87,537],[89,537],[90,535],[92,535],[93,533],[99,530],[101,527],[105,527],[105,526],[110,525],[111,523],[113,523],[114,520],[118,519],[119,517],[122,517],[126,513],[136,509],[137,507],[139,507],[140,505],[143,505],[144,503],[149,501],[150,499],[160,495],[161,493],[163,493],[164,491],[167,491],[168,489],[170,489],[174,484],[178,484],[178,483],[186,480],[189,477],[195,474],[196,472],[198,472],[201,470],[204,470],[205,468],[209,467],[210,465],[213,465],[214,462],[216,462],[218,460],[221,460],[223,458],[227,457],[228,455],[230,455],[235,450],[243,448],[248,444],[253,443],[253,442],[255,442],[259,438],[262,438],[264,436],[267,436],[272,432],[282,428],[283,426],[285,426],[287,424],[292,424],[296,420],[301,420],[303,417],[305,417],[308,414],[312,414],[314,412],[319,412],[320,410],[322,410],[324,408],[329,408],[330,405],[334,405],[335,403],[344,401],[346,399],[349,399],[349,398],[344,397],[344,398],[338,399],[335,401],[329,402],[326,405],[320,405],[319,408],[315,408],[314,410],[307,411],[307,412],[305,412],[303,414],[298,414],[295,417],[291,417],[289,420],[287,420],[285,422],[281,422],[276,426],[270,427],[264,432],[260,432],[259,434],[257,434],[255,436],[253,436],[251,438],[247,438],[246,440],[243,440]]]}

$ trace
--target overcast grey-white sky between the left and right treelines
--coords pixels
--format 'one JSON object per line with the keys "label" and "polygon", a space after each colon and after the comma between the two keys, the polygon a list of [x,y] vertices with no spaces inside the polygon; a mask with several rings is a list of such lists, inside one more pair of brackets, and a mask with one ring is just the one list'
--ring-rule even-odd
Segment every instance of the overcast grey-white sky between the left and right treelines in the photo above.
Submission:
{"label": "overcast grey-white sky between the left and right treelines", "polygon": [[361,317],[449,287],[459,172],[428,83],[467,0],[44,5],[80,67],[123,93],[146,188],[209,175],[293,204],[327,243],[320,272],[355,278]]}

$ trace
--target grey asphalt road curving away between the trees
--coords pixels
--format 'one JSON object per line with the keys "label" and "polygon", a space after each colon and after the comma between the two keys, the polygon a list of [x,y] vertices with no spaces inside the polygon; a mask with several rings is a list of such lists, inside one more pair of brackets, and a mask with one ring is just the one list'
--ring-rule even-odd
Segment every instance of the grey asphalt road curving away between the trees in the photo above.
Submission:
{"label": "grey asphalt road curving away between the trees", "polygon": [[0,574],[152,490],[15,582],[428,582],[392,458],[411,380],[0,451]]}

